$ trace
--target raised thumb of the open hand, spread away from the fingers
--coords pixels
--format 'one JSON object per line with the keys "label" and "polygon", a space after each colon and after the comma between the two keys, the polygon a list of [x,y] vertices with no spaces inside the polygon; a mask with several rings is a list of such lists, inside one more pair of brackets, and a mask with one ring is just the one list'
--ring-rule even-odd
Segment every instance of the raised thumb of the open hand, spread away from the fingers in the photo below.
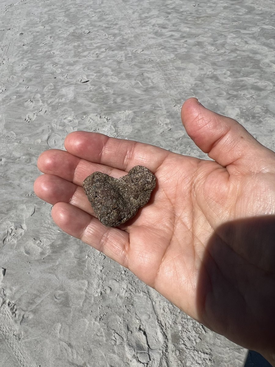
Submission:
{"label": "raised thumb of the open hand, spread away from the fingers", "polygon": [[241,124],[208,110],[196,98],[183,103],[181,120],[195,144],[223,167],[258,172],[274,160],[274,152],[257,142]]}

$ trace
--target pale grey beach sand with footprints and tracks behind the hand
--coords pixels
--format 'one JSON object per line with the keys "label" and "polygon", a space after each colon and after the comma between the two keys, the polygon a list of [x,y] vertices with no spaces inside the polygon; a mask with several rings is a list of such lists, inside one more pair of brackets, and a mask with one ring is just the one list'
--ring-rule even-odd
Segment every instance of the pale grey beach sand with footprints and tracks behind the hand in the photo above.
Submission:
{"label": "pale grey beach sand with footprints and tracks behind the hand", "polygon": [[241,367],[246,349],[61,232],[33,181],[72,131],[204,158],[188,97],[275,149],[274,0],[0,1],[0,367]]}

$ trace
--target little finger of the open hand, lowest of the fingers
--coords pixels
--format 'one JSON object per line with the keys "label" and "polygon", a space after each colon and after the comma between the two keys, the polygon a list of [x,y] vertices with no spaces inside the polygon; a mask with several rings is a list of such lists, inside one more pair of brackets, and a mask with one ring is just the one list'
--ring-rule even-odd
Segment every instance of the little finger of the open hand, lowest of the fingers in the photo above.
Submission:
{"label": "little finger of the open hand, lowest of the fingers", "polygon": [[52,208],[52,218],[68,235],[79,238],[127,267],[128,233],[118,228],[105,227],[98,219],[67,203],[55,204]]}

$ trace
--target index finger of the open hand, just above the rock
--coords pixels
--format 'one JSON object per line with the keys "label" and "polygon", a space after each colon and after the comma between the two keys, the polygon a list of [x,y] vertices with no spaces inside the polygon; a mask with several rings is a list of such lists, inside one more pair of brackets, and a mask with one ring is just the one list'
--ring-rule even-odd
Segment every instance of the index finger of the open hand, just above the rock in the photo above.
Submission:
{"label": "index finger of the open hand, just above the rock", "polygon": [[140,165],[155,173],[169,154],[153,145],[86,131],[71,132],[64,145],[72,155],[126,172]]}

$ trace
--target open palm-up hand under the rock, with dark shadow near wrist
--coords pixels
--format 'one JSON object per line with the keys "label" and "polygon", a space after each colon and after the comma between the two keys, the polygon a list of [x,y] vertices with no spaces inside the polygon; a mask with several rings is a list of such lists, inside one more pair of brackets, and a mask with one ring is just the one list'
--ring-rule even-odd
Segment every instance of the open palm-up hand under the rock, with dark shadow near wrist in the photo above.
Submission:
{"label": "open palm-up hand under the rock, with dark shadow near wrist", "polygon": [[[66,233],[131,270],[188,315],[275,366],[275,153],[196,98],[181,109],[187,134],[212,160],[77,131],[66,152],[38,158],[38,197]],[[150,201],[119,228],[94,216],[82,188],[95,171],[133,166],[157,178]]]}

